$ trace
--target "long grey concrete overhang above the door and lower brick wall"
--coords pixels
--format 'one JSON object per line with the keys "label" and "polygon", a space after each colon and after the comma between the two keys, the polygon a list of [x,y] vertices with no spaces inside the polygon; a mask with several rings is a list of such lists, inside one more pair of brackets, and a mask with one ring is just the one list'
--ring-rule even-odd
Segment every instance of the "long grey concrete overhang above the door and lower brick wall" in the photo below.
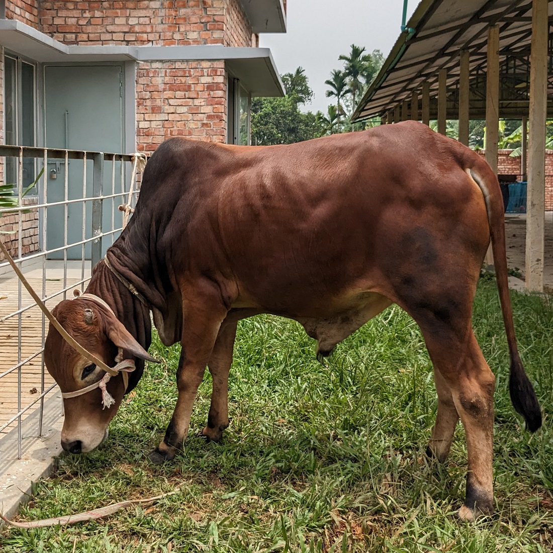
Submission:
{"label": "long grey concrete overhang above the door and lower brick wall", "polygon": [[222,60],[252,96],[284,95],[284,85],[269,48],[68,45],[12,19],[0,19],[0,45],[26,58],[50,63]]}

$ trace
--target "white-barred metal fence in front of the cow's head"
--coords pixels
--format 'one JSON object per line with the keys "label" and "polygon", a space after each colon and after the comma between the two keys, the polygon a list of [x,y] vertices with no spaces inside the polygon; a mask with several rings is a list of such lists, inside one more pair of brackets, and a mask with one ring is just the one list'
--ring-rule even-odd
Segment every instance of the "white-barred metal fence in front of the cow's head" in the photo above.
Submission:
{"label": "white-barred metal fence in front of the cow's head", "polygon": [[[92,267],[121,232],[118,206],[134,206],[138,197],[135,188],[128,201],[133,161],[128,154],[0,146],[4,180],[13,182],[17,201],[17,206],[0,208],[0,240],[11,247],[15,262],[50,309],[68,292],[72,297],[72,289],[85,289]],[[43,435],[45,401],[56,387],[44,366],[47,332],[45,316],[8,262],[0,262],[4,466],[9,457],[21,458],[27,444]],[[15,433],[17,451],[2,447],[8,436],[13,443]]]}

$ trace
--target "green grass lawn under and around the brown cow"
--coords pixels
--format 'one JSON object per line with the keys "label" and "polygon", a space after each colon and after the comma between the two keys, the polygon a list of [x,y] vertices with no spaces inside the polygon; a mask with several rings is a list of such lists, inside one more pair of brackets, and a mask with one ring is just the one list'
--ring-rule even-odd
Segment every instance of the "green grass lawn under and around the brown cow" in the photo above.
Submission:
{"label": "green grass lawn under and around the brown cow", "polygon": [[493,282],[479,286],[474,326],[497,375],[497,514],[474,524],[459,425],[445,466],[424,451],[436,413],[431,363],[414,321],[390,307],[323,367],[294,322],[259,316],[239,326],[229,382],[231,426],[221,445],[197,436],[211,393],[206,373],[191,431],[174,462],[152,466],[176,398],[179,348],[155,342],[150,366],[107,442],[66,456],[21,518],[55,517],[180,487],[153,507],[87,524],[4,530],[12,551],[553,551],[553,306],[513,294],[521,354],[545,412],[524,431],[507,391],[508,356]]}

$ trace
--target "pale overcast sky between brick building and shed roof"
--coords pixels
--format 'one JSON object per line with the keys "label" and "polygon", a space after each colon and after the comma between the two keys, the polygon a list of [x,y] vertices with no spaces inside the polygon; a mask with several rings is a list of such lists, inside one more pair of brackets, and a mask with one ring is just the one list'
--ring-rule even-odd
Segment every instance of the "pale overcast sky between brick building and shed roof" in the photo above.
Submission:
{"label": "pale overcast sky between brick building and shed roof", "polygon": [[[407,19],[418,0],[409,0]],[[280,74],[305,69],[315,93],[304,109],[326,112],[325,97],[332,69],[342,69],[340,54],[350,45],[379,49],[388,56],[401,32],[403,0],[288,0],[288,32],[259,35],[259,46],[270,48]]]}

